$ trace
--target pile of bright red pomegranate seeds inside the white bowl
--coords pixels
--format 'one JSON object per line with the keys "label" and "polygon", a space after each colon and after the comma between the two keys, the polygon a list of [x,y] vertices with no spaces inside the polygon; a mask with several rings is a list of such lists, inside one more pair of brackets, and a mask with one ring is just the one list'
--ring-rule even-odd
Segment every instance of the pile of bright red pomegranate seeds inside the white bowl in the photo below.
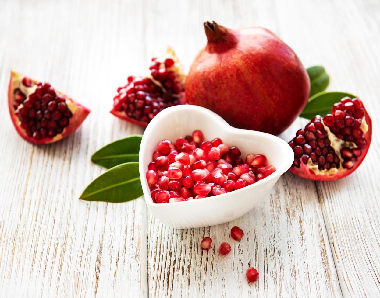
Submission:
{"label": "pile of bright red pomegranate seeds inside the white bowl", "polygon": [[202,199],[228,193],[261,180],[276,169],[266,165],[262,154],[248,154],[228,148],[220,138],[204,141],[203,133],[160,141],[148,165],[146,179],[155,203]]}

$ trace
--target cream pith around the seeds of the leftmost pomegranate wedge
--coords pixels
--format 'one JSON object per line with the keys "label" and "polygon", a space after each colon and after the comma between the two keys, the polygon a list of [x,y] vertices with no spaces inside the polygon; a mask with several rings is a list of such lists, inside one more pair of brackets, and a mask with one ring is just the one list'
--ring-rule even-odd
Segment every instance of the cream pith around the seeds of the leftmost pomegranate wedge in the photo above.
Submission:
{"label": "cream pith around the seeds of the leftmost pomegranate wedge", "polygon": [[[32,87],[25,86],[22,83],[22,80],[24,79],[24,77],[25,77],[24,75],[21,75],[17,72],[12,71],[12,83],[11,83],[12,96],[14,96],[14,91],[16,89],[19,89],[22,92],[22,94],[24,94],[26,96],[26,99],[29,99],[29,95],[36,92],[37,84],[34,81],[32,81],[34,84]],[[55,89],[54,89],[54,91],[56,94],[63,96],[63,94],[60,93],[59,91],[57,91]],[[76,105],[73,105],[73,103],[70,100],[65,100],[65,104],[67,105],[67,108],[71,111],[71,113],[74,115],[74,113],[78,109],[78,107]],[[17,107],[17,109],[14,110],[14,113],[16,113],[16,111],[21,109],[22,107],[24,107],[24,104],[20,104]],[[18,124],[21,125],[21,121],[18,119],[18,117],[17,117],[17,120],[18,120]],[[21,128],[21,126],[20,126],[20,128]],[[25,129],[22,129],[22,130],[26,131]],[[46,136],[45,138],[49,138],[50,140],[53,140],[53,141],[60,139],[61,138],[60,135],[62,135],[62,133],[65,132],[65,130],[66,130],[66,127],[64,127],[62,132],[57,133],[57,135],[55,135],[54,137],[51,138],[49,136]]]}

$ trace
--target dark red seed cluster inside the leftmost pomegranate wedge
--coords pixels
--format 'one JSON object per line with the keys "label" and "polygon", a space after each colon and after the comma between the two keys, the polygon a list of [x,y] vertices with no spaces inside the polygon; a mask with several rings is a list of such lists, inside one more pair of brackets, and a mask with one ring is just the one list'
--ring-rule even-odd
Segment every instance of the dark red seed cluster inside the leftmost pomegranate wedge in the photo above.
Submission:
{"label": "dark red seed cluster inside the leftmost pomegranate wedge", "polygon": [[[28,88],[34,86],[26,77],[22,84]],[[50,84],[39,82],[36,85],[36,91],[28,97],[20,89],[15,89],[13,107],[27,136],[35,140],[53,138],[69,125],[73,114],[67,107],[65,98],[56,94]]]}

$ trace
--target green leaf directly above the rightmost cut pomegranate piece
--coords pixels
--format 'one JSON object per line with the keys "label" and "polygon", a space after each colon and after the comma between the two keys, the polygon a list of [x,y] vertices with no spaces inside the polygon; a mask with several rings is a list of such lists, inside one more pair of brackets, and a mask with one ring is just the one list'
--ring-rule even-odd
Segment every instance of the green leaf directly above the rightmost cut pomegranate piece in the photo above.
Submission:
{"label": "green leaf directly above the rightmost cut pomegranate piece", "polygon": [[345,92],[320,92],[310,97],[309,102],[302,111],[300,117],[312,119],[316,115],[325,116],[331,113],[332,105],[339,102],[343,97],[356,97]]}

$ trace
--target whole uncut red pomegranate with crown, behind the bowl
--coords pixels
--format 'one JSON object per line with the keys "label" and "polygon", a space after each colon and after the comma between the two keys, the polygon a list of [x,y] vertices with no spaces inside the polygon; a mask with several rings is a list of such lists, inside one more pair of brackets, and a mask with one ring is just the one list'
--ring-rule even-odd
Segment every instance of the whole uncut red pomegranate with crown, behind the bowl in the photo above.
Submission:
{"label": "whole uncut red pomegranate with crown, behind the bowl", "polygon": [[188,104],[242,129],[277,135],[301,113],[310,80],[288,45],[260,27],[231,30],[205,22],[207,44],[185,81]]}

